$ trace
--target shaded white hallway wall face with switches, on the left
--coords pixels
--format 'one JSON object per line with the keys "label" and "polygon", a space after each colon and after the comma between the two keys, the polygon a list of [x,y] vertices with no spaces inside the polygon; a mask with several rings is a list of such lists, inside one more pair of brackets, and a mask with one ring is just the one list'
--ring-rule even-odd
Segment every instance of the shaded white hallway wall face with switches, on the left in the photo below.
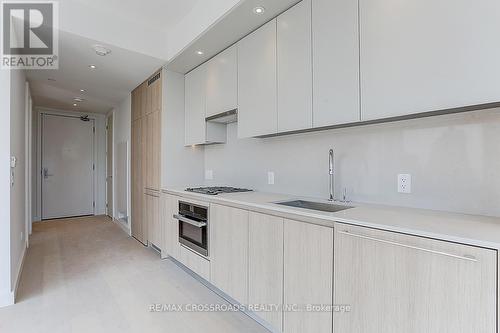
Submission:
{"label": "shaded white hallway wall face with switches, on the left", "polygon": [[14,183],[10,188],[11,286],[20,274],[26,250],[26,76],[24,71],[11,71],[10,154],[17,159],[12,168]]}

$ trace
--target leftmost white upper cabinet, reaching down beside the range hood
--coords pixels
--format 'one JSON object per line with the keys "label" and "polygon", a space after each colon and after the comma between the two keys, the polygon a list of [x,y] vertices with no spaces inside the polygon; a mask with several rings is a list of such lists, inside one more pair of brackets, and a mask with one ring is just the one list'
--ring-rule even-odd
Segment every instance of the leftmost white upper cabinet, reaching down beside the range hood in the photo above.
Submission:
{"label": "leftmost white upper cabinet, reaching down beside the range hood", "polygon": [[185,144],[199,145],[226,142],[224,124],[207,123],[206,118],[207,64],[203,64],[184,78]]}

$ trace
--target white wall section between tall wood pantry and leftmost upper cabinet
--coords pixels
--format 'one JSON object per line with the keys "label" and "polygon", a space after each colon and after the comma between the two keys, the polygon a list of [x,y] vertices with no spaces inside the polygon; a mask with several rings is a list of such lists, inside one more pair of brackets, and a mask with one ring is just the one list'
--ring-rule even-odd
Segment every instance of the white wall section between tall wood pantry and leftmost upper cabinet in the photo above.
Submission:
{"label": "white wall section between tall wood pantry and leftmost upper cabinet", "polygon": [[184,147],[184,75],[163,70],[163,188],[202,184],[204,148]]}

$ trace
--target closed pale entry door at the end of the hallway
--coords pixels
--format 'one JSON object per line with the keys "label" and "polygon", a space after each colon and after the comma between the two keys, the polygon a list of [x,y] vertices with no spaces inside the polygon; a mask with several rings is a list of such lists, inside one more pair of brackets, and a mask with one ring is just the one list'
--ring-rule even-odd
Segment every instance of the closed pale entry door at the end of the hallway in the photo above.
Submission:
{"label": "closed pale entry door at the end of the hallway", "polygon": [[42,218],[94,214],[94,120],[42,115]]}

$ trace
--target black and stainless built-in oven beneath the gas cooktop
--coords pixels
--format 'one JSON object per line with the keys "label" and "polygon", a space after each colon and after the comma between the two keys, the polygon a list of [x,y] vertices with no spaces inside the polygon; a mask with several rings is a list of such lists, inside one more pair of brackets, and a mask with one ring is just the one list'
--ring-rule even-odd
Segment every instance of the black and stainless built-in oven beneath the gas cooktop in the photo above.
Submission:
{"label": "black and stainless built-in oven beneath the gas cooktop", "polygon": [[208,257],[208,207],[179,201],[179,243]]}

